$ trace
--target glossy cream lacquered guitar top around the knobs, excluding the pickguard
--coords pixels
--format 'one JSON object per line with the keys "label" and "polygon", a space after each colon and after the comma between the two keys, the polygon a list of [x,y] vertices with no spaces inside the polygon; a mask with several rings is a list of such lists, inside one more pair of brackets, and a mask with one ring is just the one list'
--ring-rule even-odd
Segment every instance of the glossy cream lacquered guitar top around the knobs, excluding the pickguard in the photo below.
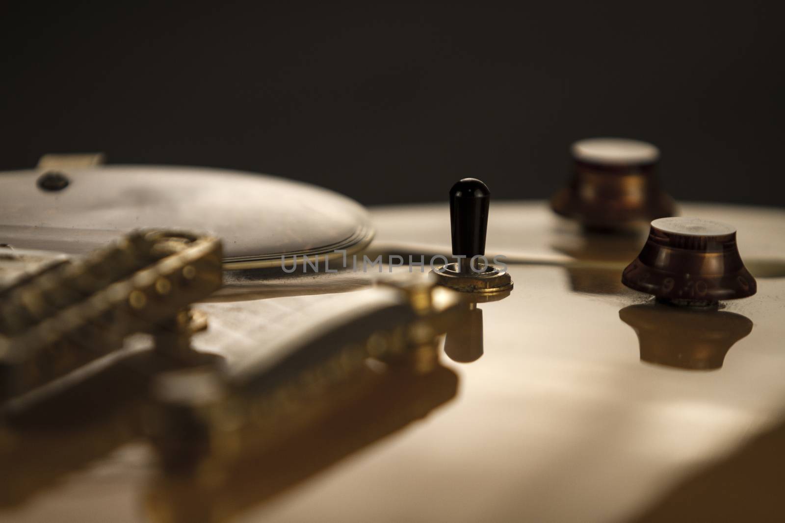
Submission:
{"label": "glossy cream lacquered guitar top around the knobs, excluding the pickguard", "polygon": [[[509,256],[515,289],[476,306],[479,356],[462,353],[456,359],[471,362],[458,363],[441,354],[458,376],[455,398],[307,481],[248,503],[236,521],[761,521],[778,514],[785,212],[683,205],[681,213],[736,227],[756,295],[695,314],[653,303],[620,281],[648,231],[586,236],[545,203],[492,205],[487,255]],[[449,252],[447,205],[373,216],[378,245]],[[371,277],[341,278],[346,288],[331,290]],[[314,279],[301,293],[320,285],[334,284]],[[210,332],[197,344],[214,345],[208,342],[232,329],[263,343],[301,325],[304,304],[316,310],[319,300],[340,303],[352,294],[207,303]],[[248,317],[258,325],[238,326]],[[467,329],[476,325],[475,314]],[[254,343],[236,344],[228,359]],[[3,521],[145,521],[153,475],[150,452],[131,443],[0,514]]]}

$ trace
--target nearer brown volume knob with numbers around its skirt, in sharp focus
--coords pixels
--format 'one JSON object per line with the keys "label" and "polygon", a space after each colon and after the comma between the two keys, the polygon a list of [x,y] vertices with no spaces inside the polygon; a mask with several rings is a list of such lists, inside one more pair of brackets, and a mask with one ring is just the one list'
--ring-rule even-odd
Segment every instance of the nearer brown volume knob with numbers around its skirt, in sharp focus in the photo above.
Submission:
{"label": "nearer brown volume knob with numbers around its skirt, in sharp focus", "polygon": [[739,256],[736,229],[699,218],[652,221],[646,245],[622,273],[622,283],[687,305],[746,298],[758,289]]}

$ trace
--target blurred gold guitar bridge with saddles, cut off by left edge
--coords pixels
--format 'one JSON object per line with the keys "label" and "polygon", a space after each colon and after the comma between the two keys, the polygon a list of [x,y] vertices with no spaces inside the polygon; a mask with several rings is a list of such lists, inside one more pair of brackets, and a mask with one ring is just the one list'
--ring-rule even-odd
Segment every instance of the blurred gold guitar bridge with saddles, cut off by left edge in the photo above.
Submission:
{"label": "blurred gold guitar bridge with saddles, cut off by left edge", "polygon": [[187,307],[220,286],[221,242],[181,231],[134,232],[20,275],[0,290],[0,398],[64,376],[134,332],[187,355]]}

